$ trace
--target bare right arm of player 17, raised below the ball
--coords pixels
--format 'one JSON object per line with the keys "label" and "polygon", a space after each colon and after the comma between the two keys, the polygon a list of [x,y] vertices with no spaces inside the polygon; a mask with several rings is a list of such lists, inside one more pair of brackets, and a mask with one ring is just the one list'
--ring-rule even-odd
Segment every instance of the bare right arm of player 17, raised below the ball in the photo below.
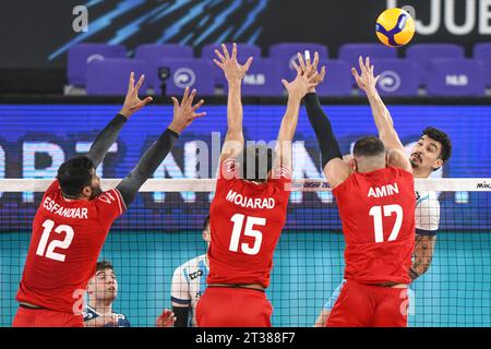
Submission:
{"label": "bare right arm of player 17, raised below the ball", "polygon": [[376,91],[376,83],[380,75],[376,77],[374,76],[374,67],[370,65],[370,57],[367,57],[364,62],[360,57],[359,64],[361,75],[358,74],[356,68],[351,68],[351,72],[358,87],[367,94],[370,107],[372,108],[373,120],[375,121],[376,129],[379,130],[379,137],[382,140],[386,148],[404,151],[404,145],[394,129],[394,121],[392,120],[391,112]]}

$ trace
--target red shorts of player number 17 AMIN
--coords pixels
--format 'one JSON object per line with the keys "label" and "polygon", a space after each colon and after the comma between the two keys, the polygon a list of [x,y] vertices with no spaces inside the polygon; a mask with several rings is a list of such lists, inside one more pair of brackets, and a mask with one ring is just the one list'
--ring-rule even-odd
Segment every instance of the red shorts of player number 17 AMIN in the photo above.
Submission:
{"label": "red shorts of player number 17 AMIN", "polygon": [[407,288],[347,280],[334,303],[327,327],[407,327]]}

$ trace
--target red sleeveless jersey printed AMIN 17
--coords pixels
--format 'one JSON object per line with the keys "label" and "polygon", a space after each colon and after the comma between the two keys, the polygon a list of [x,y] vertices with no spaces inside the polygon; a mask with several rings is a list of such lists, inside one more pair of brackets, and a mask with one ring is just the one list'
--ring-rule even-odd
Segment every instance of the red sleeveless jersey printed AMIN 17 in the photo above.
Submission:
{"label": "red sleeveless jersey printed AMIN 17", "polygon": [[346,240],[345,278],[409,284],[415,246],[415,180],[387,167],[352,173],[333,190]]}

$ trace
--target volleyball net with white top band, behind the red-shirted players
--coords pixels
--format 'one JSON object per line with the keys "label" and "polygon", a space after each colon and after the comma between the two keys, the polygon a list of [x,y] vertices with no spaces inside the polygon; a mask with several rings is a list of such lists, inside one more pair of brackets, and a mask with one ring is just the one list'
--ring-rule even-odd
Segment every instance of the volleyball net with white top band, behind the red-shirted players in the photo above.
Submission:
{"label": "volleyball net with white top band, behind the red-shirted players", "polygon": [[[0,326],[12,324],[33,217],[50,182],[0,180]],[[103,180],[103,189],[118,182]],[[213,179],[151,179],[113,224],[99,261],[112,264],[113,311],[132,326],[155,326],[171,309],[176,269],[206,253],[202,230],[214,189]],[[409,326],[491,326],[491,179],[416,180],[416,189],[429,203],[417,216],[436,220],[438,234],[428,270],[410,286]],[[310,327],[343,279],[345,244],[327,183],[298,180],[291,190],[267,297],[273,326]]]}

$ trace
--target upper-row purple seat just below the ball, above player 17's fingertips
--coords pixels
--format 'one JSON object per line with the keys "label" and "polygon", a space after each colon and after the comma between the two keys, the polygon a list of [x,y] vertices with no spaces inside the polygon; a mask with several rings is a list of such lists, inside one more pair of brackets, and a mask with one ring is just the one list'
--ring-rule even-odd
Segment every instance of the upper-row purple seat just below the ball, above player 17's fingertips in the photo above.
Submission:
{"label": "upper-row purple seat just below the ball, above player 17's fingertips", "polygon": [[339,48],[338,58],[349,64],[358,68],[359,57],[370,57],[373,62],[378,58],[394,59],[397,58],[397,51],[381,44],[345,44]]}

